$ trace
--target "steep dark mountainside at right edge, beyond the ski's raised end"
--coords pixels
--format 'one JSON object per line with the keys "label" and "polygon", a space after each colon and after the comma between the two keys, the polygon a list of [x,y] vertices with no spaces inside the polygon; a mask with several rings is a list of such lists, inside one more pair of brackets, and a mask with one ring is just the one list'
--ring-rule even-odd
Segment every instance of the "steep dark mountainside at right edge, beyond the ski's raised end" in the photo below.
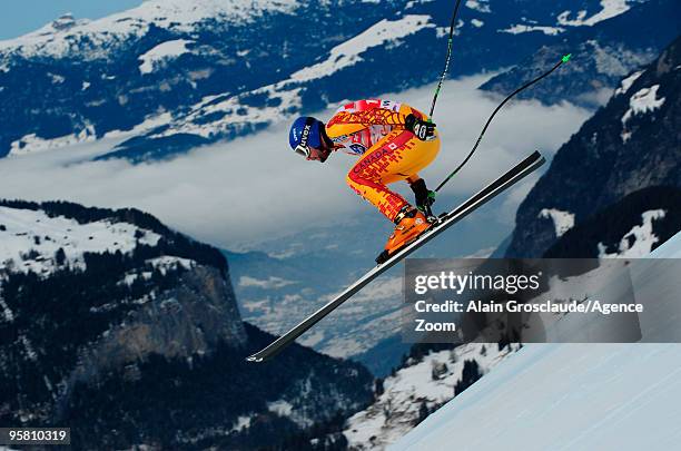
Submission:
{"label": "steep dark mountainside at right edge, beyond the ski's raised end", "polygon": [[[608,105],[559,149],[549,170],[519,208],[506,255],[541,256],[569,228],[626,195],[655,186],[680,188],[680,89],[681,38],[677,38],[655,61],[624,77]],[[635,212],[635,219],[621,210],[610,226],[621,222],[622,226],[645,227],[647,220],[662,219],[640,216],[658,209],[655,202],[649,203],[650,208],[639,202],[644,209]],[[677,210],[678,206],[669,205],[668,220],[677,217]],[[612,227],[615,231],[626,232]],[[669,237],[675,232],[667,229],[664,234]],[[621,236],[608,238],[616,243]],[[615,243],[608,243],[608,253]],[[598,252],[580,249],[588,253],[583,256]]]}

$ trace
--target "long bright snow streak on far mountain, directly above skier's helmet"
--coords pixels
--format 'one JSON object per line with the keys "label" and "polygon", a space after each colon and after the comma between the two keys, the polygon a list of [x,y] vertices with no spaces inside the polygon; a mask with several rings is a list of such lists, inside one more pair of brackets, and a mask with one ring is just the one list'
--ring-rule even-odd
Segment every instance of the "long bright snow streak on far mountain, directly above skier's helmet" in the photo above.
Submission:
{"label": "long bright snow streak on far mountain, directly above skier's helmet", "polygon": [[290,78],[294,81],[309,81],[327,77],[362,61],[359,55],[372,47],[382,46],[388,41],[397,41],[424,28],[434,28],[435,26],[430,20],[430,16],[420,14],[407,14],[394,21],[383,19],[354,38],[334,47],[325,61],[300,69],[294,72]]}

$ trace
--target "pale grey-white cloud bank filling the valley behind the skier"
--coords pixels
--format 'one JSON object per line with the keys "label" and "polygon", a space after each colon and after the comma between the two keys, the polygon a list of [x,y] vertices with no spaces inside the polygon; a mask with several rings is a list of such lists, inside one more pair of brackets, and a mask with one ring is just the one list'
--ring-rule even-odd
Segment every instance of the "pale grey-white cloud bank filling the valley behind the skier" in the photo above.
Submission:
{"label": "pale grey-white cloud bank filling the valley behind the skier", "polygon": [[[434,115],[443,147],[435,163],[421,173],[432,187],[465,157],[501,100],[475,89],[486,78],[445,82]],[[433,87],[426,87],[381,97],[427,112],[432,95]],[[327,119],[333,110],[314,114]],[[470,164],[444,188],[444,196],[476,192],[534,149],[552,155],[589,115],[570,104],[512,102],[497,115]],[[197,239],[226,248],[375,214],[345,184],[353,157],[333,155],[325,165],[305,161],[288,149],[287,133],[288,125],[280,124],[170,161],[137,166],[88,160],[111,148],[114,140],[6,158],[0,160],[1,196],[137,207]],[[500,214],[513,210],[522,200],[520,194],[524,196],[530,187],[525,184],[512,193],[505,213]],[[406,186],[398,190],[411,197]]]}

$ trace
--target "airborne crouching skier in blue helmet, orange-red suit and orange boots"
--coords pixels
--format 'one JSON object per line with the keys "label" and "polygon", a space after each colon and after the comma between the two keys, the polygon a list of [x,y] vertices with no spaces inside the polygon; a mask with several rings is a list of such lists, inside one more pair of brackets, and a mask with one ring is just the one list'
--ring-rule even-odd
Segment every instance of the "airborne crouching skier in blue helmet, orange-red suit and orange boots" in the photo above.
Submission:
{"label": "airborne crouching skier in blue helmet, orange-red suit and orange boots", "polygon": [[[392,100],[358,100],[340,107],[326,125],[314,117],[297,118],[288,138],[296,154],[308,160],[324,163],[335,150],[359,156],[347,184],[395,223],[377,263],[414,241],[435,219],[431,212],[435,194],[417,173],[435,159],[440,138],[435,124],[417,109]],[[398,180],[409,184],[416,208],[387,188]]]}

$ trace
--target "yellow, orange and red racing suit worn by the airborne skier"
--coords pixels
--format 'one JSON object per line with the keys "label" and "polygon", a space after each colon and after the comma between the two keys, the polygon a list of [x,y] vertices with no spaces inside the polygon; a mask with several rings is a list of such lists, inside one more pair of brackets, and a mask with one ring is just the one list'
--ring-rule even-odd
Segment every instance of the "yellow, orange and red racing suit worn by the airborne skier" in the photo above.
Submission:
{"label": "yellow, orange and red racing suit worn by the airborne skier", "polygon": [[347,173],[346,182],[359,196],[376,206],[388,219],[408,203],[386,185],[418,180],[417,171],[430,165],[440,151],[440,137],[422,141],[405,130],[409,114],[426,116],[392,100],[358,100],[340,107],[326,124],[326,134],[336,150],[358,155],[359,160]]}

